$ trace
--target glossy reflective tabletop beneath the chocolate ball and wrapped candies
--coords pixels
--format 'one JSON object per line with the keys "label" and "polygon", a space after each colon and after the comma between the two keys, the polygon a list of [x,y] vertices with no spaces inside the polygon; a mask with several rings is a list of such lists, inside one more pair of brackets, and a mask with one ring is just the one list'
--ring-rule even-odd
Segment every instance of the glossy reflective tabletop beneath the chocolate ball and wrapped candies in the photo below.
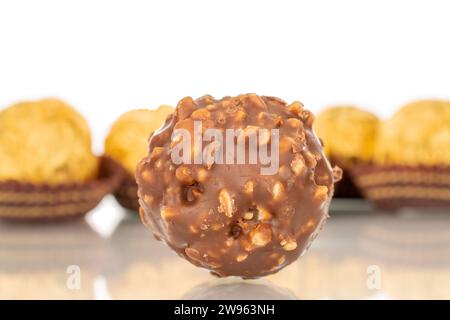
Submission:
{"label": "glossy reflective tabletop beneath the chocolate ball and wrapped candies", "polygon": [[78,221],[0,222],[0,298],[450,299],[450,210],[333,206],[304,257],[252,281],[178,258],[113,198]]}

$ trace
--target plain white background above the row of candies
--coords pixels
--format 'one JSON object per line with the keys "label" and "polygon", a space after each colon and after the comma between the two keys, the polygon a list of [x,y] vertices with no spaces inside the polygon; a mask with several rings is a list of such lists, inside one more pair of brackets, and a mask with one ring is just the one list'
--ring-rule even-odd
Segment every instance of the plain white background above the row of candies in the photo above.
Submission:
{"label": "plain white background above the row of candies", "polygon": [[382,117],[450,97],[449,1],[0,1],[0,107],[56,96],[101,152],[134,108],[245,92]]}

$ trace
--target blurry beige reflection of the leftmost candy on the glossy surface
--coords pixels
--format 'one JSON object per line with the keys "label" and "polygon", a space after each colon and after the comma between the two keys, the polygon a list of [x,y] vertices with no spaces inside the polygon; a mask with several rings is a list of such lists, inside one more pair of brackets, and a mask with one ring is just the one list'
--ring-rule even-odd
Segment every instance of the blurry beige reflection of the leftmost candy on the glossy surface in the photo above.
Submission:
{"label": "blurry beige reflection of the leftmost candy on the glossy surface", "polygon": [[[95,276],[111,260],[83,220],[1,221],[0,235],[0,299],[93,299]],[[70,287],[76,274],[79,289]]]}

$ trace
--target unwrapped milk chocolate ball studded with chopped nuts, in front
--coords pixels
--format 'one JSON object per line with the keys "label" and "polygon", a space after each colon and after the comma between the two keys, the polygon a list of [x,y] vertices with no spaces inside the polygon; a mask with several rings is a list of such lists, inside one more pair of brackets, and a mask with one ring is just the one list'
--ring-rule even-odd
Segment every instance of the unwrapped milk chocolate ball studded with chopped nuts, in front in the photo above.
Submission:
{"label": "unwrapped milk chocolate ball studded with chopped nuts, in front", "polygon": [[[279,129],[278,172],[261,175],[259,162],[175,165],[172,133],[192,132],[194,120],[204,129]],[[322,228],[334,190],[333,169],[312,122],[301,103],[274,97],[182,99],[138,165],[143,223],[180,256],[218,276],[256,278],[286,267]]]}

